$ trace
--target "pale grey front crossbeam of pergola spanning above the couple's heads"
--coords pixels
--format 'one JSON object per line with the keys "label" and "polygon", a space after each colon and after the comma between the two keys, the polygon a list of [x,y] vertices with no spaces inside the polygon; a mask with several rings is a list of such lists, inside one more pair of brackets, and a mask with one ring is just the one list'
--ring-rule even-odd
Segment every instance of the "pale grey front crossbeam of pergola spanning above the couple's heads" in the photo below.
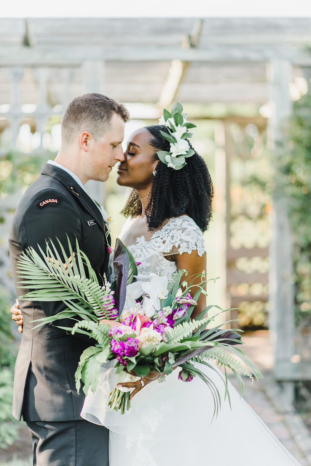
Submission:
{"label": "pale grey front crossbeam of pergola spanning above the couple's heads", "polygon": [[84,60],[116,62],[266,62],[272,59],[310,66],[311,56],[302,47],[271,45],[213,45],[207,48],[182,48],[179,46],[73,46],[23,47],[0,46],[1,66],[79,66]]}

